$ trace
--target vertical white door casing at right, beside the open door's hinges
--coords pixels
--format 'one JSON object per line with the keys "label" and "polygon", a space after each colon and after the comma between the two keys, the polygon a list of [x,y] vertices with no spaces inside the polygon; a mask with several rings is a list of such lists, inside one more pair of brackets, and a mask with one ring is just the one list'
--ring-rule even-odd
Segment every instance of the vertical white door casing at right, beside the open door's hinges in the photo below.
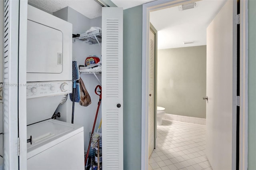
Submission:
{"label": "vertical white door casing at right, beside the open door's hinges", "polygon": [[239,169],[248,167],[248,0],[240,1],[240,158]]}

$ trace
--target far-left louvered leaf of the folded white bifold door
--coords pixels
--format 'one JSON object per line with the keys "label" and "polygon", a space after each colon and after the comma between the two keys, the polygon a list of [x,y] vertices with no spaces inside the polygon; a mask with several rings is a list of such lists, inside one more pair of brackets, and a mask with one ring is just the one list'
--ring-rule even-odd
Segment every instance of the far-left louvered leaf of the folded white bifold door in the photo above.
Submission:
{"label": "far-left louvered leaf of the folded white bifold door", "polygon": [[[3,124],[4,169],[18,170],[18,22],[19,1],[4,0]],[[2,11],[2,10],[1,10]]]}

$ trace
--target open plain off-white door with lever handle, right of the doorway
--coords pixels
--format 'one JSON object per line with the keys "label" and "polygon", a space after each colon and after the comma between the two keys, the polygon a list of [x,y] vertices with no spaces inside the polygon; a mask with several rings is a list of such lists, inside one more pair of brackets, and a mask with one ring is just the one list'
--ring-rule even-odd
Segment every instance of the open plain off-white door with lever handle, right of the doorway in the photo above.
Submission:
{"label": "open plain off-white door with lever handle, right of the doorway", "polygon": [[236,1],[207,28],[206,156],[214,170],[236,169]]}

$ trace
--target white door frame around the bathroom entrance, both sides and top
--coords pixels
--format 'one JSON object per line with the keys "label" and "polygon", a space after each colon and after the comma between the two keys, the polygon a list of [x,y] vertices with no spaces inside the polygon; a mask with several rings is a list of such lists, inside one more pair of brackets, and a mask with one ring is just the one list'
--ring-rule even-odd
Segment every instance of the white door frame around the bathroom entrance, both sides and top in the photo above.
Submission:
{"label": "white door frame around the bathroom entrance, both sides and top", "polygon": [[[150,12],[197,0],[156,0],[142,6],[142,122],[141,169],[148,169],[148,62]],[[155,125],[156,126],[156,125]],[[156,127],[155,127],[156,128]],[[239,169],[248,165],[248,0],[240,1],[240,158]]]}

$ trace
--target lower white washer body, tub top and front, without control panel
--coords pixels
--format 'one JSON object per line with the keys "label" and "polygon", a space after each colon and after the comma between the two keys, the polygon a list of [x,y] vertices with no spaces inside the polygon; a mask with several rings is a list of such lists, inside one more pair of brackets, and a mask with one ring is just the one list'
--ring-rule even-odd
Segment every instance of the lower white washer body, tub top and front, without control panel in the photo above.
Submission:
{"label": "lower white washer body, tub top and front, without control panel", "polygon": [[84,128],[48,119],[27,127],[28,170],[84,170]]}

